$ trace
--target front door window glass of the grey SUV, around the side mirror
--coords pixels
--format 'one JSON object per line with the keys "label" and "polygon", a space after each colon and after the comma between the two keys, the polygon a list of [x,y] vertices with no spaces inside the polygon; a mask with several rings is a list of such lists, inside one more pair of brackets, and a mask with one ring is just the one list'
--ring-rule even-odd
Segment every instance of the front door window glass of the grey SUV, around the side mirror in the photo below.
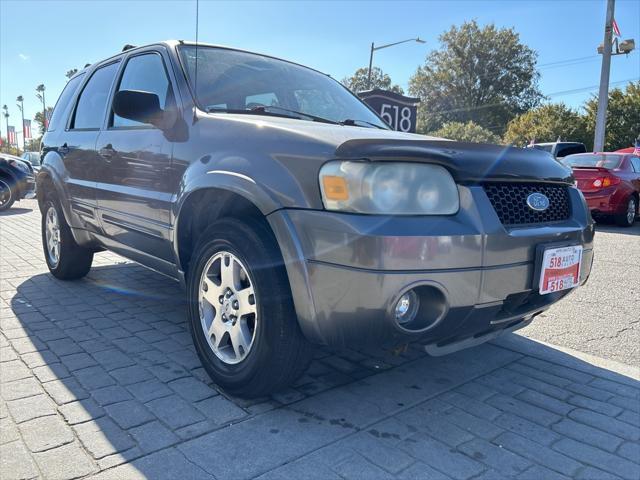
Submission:
{"label": "front door window glass of the grey SUV, around the side mirror", "polygon": [[[158,53],[145,53],[136,55],[127,61],[124,68],[118,91],[141,90],[155,93],[163,110],[173,103],[171,83],[167,77],[162,57]],[[140,127],[148,124],[122,118],[113,113],[111,126],[113,127]]]}

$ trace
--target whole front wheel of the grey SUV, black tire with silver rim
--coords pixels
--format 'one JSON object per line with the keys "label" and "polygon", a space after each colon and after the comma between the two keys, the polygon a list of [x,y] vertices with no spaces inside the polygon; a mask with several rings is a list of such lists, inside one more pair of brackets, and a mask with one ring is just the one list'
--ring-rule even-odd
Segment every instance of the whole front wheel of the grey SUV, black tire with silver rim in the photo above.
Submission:
{"label": "whole front wheel of the grey SUV, black tire with silver rim", "polygon": [[271,230],[223,219],[201,236],[187,295],[196,350],[211,379],[232,395],[259,397],[285,388],[312,356]]}

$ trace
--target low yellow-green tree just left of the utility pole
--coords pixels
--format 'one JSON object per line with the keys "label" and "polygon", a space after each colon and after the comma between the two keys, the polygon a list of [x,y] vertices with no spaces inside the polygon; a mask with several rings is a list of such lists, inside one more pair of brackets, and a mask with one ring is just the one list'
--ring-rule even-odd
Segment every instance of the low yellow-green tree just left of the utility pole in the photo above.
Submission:
{"label": "low yellow-green tree just left of the utility pole", "polygon": [[550,103],[518,115],[509,122],[504,134],[505,143],[524,146],[536,142],[555,142],[558,137],[573,142],[592,145],[584,118],[564,103]]}

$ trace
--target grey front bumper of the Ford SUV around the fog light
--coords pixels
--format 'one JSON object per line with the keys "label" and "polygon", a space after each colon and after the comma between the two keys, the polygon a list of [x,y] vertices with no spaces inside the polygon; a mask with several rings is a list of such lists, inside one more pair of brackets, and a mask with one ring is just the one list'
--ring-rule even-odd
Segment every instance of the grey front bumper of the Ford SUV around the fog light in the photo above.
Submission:
{"label": "grey front bumper of the Ford SUV around the fog light", "polygon": [[[460,211],[447,217],[381,217],[311,210],[269,216],[278,238],[301,328],[335,347],[363,343],[458,342],[523,325],[568,292],[541,296],[536,247],[584,247],[581,283],[590,273],[593,222],[570,189],[562,223],[506,229],[482,187],[460,186]],[[441,293],[434,321],[408,331],[393,308],[408,289]]]}

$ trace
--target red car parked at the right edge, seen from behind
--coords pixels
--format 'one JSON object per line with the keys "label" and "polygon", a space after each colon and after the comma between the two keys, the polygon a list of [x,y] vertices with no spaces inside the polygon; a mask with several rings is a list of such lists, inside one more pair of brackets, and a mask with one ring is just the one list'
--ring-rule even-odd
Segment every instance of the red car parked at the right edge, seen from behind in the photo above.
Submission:
{"label": "red car parked at the right edge, seen from behind", "polygon": [[640,156],[633,153],[580,153],[564,157],[573,169],[594,218],[613,217],[630,227],[640,205]]}

